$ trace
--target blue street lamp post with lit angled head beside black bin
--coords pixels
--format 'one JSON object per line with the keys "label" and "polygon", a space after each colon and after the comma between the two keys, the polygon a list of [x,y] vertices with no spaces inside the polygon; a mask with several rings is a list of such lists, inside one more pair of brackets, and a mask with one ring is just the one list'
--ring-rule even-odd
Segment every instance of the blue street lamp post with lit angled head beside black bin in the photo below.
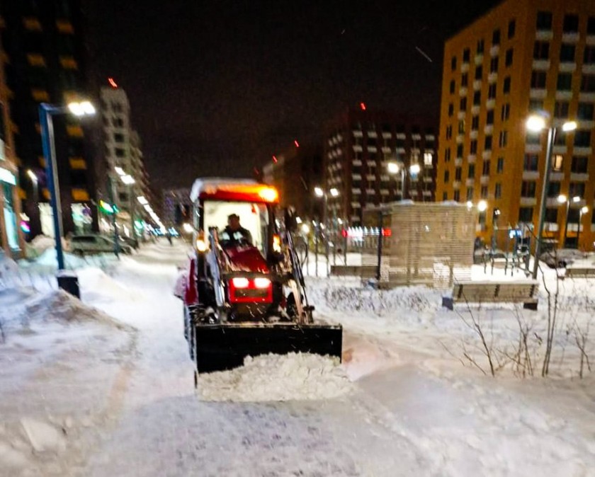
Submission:
{"label": "blue street lamp post with lit angled head beside black bin", "polygon": [[[41,125],[41,142],[43,155],[45,156],[45,167],[47,171],[47,185],[50,190],[50,202],[54,219],[54,235],[56,241],[56,255],[58,270],[64,270],[64,251],[62,251],[62,207],[60,205],[60,181],[58,180],[58,168],[56,161],[56,147],[54,140],[55,115],[72,113],[75,116],[94,115],[95,108],[89,101],[82,103],[69,103],[67,107],[56,106],[47,103],[39,105],[39,119]],[[60,285],[60,281],[58,283]]]}

